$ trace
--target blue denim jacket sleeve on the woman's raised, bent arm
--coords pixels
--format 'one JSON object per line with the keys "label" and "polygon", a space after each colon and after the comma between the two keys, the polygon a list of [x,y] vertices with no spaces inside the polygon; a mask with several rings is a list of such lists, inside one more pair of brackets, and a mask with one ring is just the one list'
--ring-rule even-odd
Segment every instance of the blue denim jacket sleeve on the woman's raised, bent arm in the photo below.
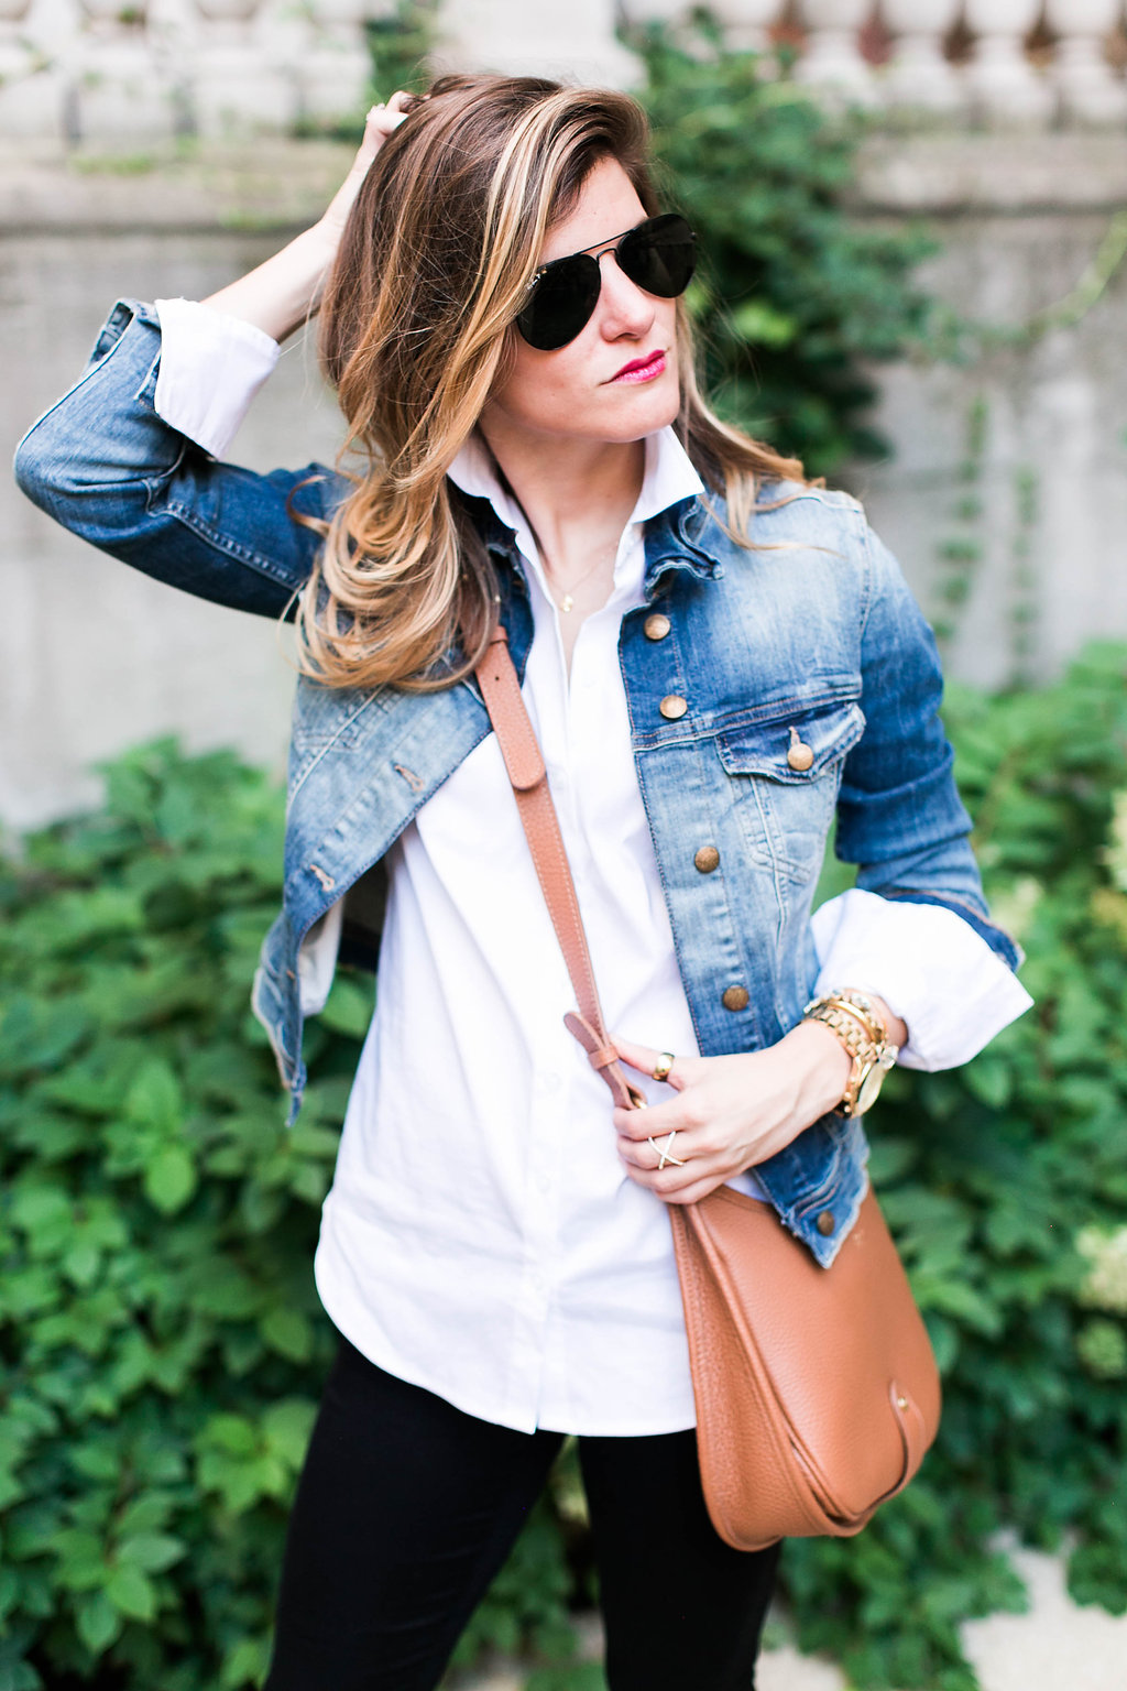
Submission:
{"label": "blue denim jacket sleeve on the woman's raised, bent arm", "polygon": [[154,409],[161,326],[118,301],[86,370],[27,431],[15,479],[113,558],[237,610],[282,616],[306,582],[338,482],[319,465],[259,475],[218,463]]}

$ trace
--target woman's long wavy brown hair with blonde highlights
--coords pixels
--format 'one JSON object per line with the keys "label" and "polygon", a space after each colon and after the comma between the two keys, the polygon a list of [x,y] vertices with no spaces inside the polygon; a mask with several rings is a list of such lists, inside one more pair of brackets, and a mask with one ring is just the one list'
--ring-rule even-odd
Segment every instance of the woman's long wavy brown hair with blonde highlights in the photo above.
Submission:
{"label": "woman's long wavy brown hair with blonde highlights", "polygon": [[[321,306],[353,487],[301,595],[306,673],[422,692],[480,659],[497,583],[446,472],[504,377],[544,235],[591,167],[617,159],[645,211],[659,210],[647,140],[640,107],[613,90],[443,76],[380,147]],[[801,480],[801,465],[708,411],[683,303],[678,348],[678,435],[747,541],[759,479]]]}

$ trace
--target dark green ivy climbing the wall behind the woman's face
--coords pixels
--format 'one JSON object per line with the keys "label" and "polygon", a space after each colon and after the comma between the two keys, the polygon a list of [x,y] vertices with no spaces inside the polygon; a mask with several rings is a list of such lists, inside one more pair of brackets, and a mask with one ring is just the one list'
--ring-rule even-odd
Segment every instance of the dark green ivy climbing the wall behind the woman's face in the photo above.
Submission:
{"label": "dark green ivy climbing the wall behind the woman's face", "polygon": [[721,413],[811,475],[885,453],[868,365],[928,338],[912,271],[934,245],[850,210],[860,120],[718,51],[708,25],[688,46],[661,29],[630,44],[667,198],[701,244],[689,308]]}

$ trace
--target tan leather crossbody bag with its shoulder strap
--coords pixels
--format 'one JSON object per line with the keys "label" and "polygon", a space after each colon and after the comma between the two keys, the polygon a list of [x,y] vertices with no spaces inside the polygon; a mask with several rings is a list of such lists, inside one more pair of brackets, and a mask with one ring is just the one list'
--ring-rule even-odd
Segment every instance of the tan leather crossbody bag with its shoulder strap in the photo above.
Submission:
{"label": "tan leather crossbody bag with its shoulder strap", "polygon": [[[498,629],[476,668],[578,1011],[568,1030],[615,1104],[644,1108],[603,1025],[544,759]],[[860,1532],[919,1468],[939,1375],[877,1199],[830,1268],[770,1204],[720,1185],[667,1204],[711,1522],[738,1551]]]}

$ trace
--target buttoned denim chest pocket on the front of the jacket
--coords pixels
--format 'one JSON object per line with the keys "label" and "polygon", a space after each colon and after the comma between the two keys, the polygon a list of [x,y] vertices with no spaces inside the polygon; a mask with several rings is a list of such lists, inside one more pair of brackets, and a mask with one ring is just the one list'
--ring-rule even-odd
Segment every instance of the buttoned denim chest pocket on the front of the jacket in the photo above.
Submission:
{"label": "buttoned denim chest pocket on the front of the jacket", "polygon": [[789,709],[716,736],[750,856],[791,881],[813,881],[841,785],[841,764],[865,732],[860,705]]}

